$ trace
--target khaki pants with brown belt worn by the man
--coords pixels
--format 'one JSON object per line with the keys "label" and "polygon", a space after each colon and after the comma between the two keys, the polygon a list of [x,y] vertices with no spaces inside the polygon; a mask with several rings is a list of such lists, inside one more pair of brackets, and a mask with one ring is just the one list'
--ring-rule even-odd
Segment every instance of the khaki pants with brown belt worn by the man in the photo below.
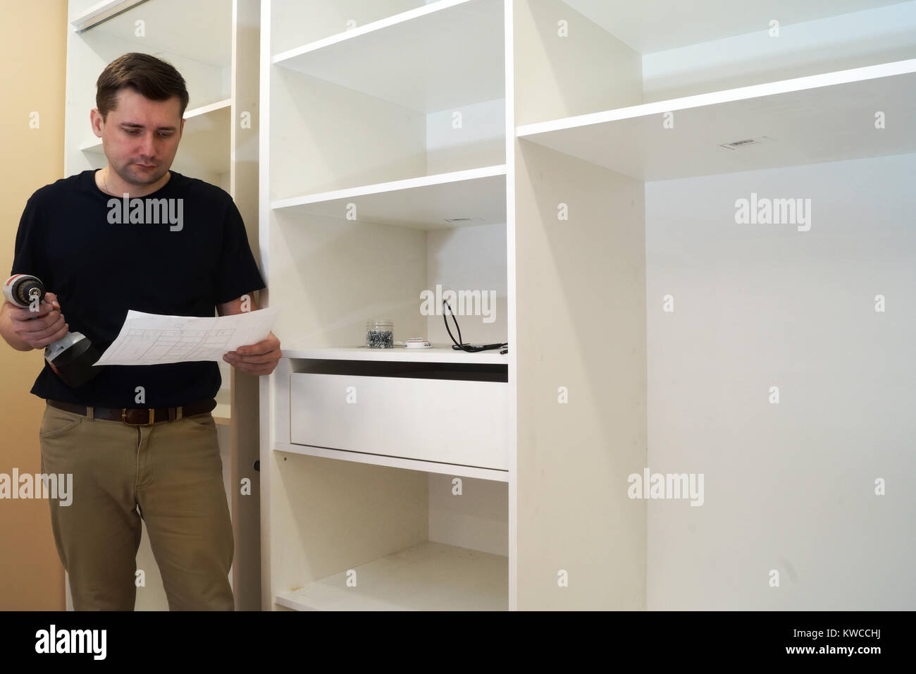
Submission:
{"label": "khaki pants with brown belt worn by the man", "polygon": [[141,517],[172,611],[232,611],[233,532],[213,414],[149,426],[46,406],[43,473],[71,473],[50,499],[77,611],[133,611]]}

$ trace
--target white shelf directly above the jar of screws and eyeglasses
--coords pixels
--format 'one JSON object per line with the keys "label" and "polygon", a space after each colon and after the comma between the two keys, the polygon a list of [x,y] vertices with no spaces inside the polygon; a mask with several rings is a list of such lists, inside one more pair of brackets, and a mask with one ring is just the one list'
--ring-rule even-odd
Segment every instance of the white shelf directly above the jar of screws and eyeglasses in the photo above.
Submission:
{"label": "white shelf directly above the jar of screws and eyeglasses", "polygon": [[[271,208],[345,219],[356,204],[360,222],[445,229],[506,222],[506,165],[378,182],[346,190],[278,199]],[[466,220],[453,221],[458,218]]]}

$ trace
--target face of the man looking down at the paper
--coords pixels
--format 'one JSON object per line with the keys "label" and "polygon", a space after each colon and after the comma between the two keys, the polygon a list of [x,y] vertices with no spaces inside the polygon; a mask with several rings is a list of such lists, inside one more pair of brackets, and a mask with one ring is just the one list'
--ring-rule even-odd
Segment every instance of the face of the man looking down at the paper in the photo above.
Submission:
{"label": "face of the man looking down at the paper", "polygon": [[180,105],[178,96],[150,101],[125,88],[118,92],[117,105],[104,122],[93,110],[93,129],[102,137],[112,170],[123,181],[148,185],[169,171],[184,128]]}

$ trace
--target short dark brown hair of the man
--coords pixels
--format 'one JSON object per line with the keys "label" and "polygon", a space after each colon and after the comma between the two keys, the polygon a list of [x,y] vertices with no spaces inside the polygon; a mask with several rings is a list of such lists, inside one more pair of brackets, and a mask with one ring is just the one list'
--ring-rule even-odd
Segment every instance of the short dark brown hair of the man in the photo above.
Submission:
{"label": "short dark brown hair of the man", "polygon": [[188,107],[188,89],[181,73],[171,63],[136,51],[105,66],[95,86],[95,106],[103,119],[117,105],[118,92],[127,87],[151,101],[167,101],[178,96],[182,117]]}

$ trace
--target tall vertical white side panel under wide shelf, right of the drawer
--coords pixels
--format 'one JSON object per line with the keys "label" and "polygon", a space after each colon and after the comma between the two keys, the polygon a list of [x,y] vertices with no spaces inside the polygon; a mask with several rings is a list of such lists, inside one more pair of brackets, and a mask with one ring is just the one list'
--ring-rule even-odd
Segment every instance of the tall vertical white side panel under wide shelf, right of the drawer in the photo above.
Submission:
{"label": "tall vertical white side panel under wide shelf, right of the drawer", "polygon": [[640,609],[643,185],[525,140],[516,159],[518,608]]}

